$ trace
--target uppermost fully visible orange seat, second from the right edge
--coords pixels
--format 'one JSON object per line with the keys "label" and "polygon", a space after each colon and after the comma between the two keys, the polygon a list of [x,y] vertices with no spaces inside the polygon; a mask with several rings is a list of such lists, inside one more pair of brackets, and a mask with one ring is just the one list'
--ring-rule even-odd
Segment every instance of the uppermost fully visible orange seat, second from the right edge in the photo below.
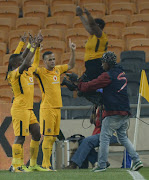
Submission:
{"label": "uppermost fully visible orange seat, second from the right edge", "polygon": [[136,13],[136,4],[125,2],[125,3],[112,3],[110,6],[110,14],[121,14],[130,16]]}

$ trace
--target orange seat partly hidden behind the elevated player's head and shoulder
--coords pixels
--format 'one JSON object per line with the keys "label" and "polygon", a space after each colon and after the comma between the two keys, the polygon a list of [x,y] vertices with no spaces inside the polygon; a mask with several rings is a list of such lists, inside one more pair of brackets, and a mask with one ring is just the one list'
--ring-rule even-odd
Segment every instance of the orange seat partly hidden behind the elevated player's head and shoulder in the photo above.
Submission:
{"label": "orange seat partly hidden behind the elevated player's head and shoulder", "polygon": [[121,39],[121,29],[118,27],[106,27],[104,32],[107,34],[108,39]]}

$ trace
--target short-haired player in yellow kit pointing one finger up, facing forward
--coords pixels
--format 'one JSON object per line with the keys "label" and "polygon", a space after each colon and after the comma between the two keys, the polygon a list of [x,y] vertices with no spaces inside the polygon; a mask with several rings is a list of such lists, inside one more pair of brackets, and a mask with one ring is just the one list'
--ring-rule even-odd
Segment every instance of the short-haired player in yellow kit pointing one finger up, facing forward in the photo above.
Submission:
{"label": "short-haired player in yellow kit pointing one finger up, facing forward", "polygon": [[55,66],[54,53],[47,51],[42,56],[45,67],[38,67],[35,72],[42,92],[40,105],[40,132],[44,135],[42,167],[49,171],[52,171],[50,156],[53,143],[60,131],[60,108],[62,107],[60,75],[72,69],[75,65],[76,46],[71,41],[69,41],[69,46],[71,57],[68,64]]}

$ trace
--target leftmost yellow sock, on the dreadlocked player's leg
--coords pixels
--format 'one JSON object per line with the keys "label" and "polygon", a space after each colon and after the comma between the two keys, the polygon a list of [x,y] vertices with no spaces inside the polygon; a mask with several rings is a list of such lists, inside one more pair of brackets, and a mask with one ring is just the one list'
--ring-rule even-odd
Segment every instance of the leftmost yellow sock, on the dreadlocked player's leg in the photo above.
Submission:
{"label": "leftmost yellow sock, on the dreadlocked player's leg", "polygon": [[12,165],[14,168],[17,168],[22,164],[23,157],[23,146],[21,144],[12,145]]}

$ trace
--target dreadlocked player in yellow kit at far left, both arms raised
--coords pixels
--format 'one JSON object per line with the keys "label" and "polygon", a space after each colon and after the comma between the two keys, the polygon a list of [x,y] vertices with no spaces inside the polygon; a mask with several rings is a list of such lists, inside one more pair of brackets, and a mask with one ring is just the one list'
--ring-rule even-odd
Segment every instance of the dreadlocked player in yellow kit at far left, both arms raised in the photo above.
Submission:
{"label": "dreadlocked player in yellow kit at far left, both arms raised", "polygon": [[[23,38],[22,38],[23,39]],[[23,41],[25,41],[24,38]],[[14,93],[14,100],[11,108],[12,122],[15,134],[15,141],[12,146],[12,166],[11,172],[29,172],[30,170],[24,166],[23,162],[23,144],[25,136],[32,135],[30,143],[30,166],[34,167],[34,170],[43,170],[36,164],[39,140],[40,140],[40,128],[39,123],[33,113],[33,97],[34,97],[34,81],[33,72],[37,68],[38,63],[34,62],[31,66],[31,59],[35,53],[35,56],[39,54],[39,45],[43,38],[41,33],[37,38],[30,36],[30,43],[22,54],[20,51],[24,45],[21,41],[15,51],[16,54],[10,56],[8,73],[6,78],[11,85]]]}

